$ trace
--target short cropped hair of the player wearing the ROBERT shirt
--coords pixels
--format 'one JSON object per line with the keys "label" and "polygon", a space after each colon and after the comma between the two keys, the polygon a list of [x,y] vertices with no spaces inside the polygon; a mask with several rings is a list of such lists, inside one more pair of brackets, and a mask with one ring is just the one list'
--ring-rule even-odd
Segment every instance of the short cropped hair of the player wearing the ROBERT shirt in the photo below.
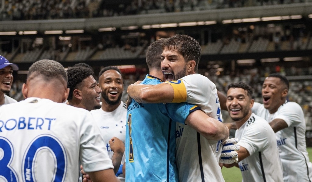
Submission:
{"label": "short cropped hair of the player wearing the ROBERT shirt", "polygon": [[62,77],[66,83],[68,80],[66,71],[61,63],[50,59],[39,60],[29,67],[27,80],[38,76],[41,76],[47,82],[53,78],[60,79],[60,77]]}

